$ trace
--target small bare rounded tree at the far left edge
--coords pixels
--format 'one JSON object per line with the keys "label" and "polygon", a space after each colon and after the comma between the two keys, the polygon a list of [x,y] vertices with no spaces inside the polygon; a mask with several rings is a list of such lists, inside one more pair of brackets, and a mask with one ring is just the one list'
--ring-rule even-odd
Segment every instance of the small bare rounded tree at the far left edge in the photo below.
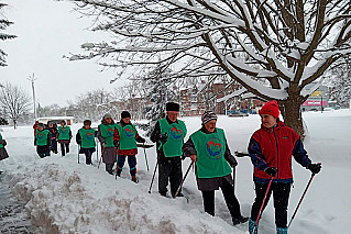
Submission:
{"label": "small bare rounded tree at the far left edge", "polygon": [[6,82],[1,88],[0,105],[4,116],[13,121],[15,129],[18,121],[29,114],[32,101],[21,87]]}

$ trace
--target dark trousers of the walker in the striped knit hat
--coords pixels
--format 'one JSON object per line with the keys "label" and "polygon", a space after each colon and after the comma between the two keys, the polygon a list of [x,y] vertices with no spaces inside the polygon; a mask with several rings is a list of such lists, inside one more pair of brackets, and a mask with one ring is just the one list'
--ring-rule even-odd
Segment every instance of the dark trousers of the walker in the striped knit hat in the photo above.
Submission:
{"label": "dark trousers of the walker in the striped knit hat", "polygon": [[[241,218],[240,204],[234,193],[234,187],[230,185],[228,180],[223,178],[222,186],[220,187],[227,203],[227,208],[231,214],[232,219]],[[204,191],[204,208],[205,212],[215,216],[215,190]]]}

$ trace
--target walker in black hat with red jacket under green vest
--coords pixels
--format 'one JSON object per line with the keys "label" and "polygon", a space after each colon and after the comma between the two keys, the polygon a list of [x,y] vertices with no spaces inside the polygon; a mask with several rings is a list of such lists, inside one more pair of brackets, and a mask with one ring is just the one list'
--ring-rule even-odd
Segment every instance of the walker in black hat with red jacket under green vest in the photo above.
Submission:
{"label": "walker in black hat with red jacket under green vest", "polygon": [[131,114],[128,111],[121,113],[121,121],[117,124],[113,135],[113,144],[118,148],[118,166],[117,176],[121,176],[125,157],[133,182],[138,182],[136,178],[136,157],[138,146],[136,142],[144,143],[145,140],[141,137],[135,126],[131,123]]}

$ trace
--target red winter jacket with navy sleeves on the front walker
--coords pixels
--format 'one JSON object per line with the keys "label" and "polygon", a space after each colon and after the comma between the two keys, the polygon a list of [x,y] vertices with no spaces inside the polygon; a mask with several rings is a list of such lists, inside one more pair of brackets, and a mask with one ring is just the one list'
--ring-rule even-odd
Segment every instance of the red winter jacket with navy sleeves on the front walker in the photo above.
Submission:
{"label": "red winter jacket with navy sleeves on the front walker", "polygon": [[311,164],[299,135],[281,121],[271,129],[261,125],[252,135],[248,151],[254,165],[253,180],[256,182],[268,182],[271,177],[264,169],[275,167],[277,174],[273,181],[292,183],[292,156],[306,168]]}

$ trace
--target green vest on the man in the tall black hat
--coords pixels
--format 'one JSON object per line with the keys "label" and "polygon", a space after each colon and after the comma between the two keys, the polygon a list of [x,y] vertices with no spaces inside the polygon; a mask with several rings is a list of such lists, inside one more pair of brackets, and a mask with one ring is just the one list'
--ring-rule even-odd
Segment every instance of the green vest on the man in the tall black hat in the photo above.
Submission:
{"label": "green vest on the man in the tall black hat", "polygon": [[163,153],[166,157],[182,156],[183,140],[186,136],[186,126],[182,120],[168,123],[166,119],[158,121],[161,133],[167,134],[167,142],[163,145]]}

